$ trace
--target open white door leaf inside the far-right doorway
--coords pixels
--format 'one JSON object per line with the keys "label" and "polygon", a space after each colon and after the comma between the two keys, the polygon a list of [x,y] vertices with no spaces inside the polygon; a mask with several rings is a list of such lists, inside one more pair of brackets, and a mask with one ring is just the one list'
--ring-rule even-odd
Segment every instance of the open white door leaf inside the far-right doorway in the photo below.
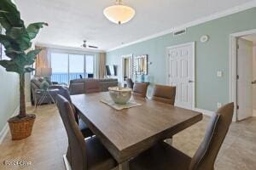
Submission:
{"label": "open white door leaf inside the far-right doorway", "polygon": [[237,119],[253,116],[253,43],[237,40]]}

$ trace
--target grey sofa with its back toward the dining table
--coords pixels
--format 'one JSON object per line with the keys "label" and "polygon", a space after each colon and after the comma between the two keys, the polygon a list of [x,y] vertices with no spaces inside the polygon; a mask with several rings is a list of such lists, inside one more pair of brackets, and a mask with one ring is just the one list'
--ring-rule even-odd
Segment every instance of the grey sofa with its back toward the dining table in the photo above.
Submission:
{"label": "grey sofa with its back toward the dining table", "polygon": [[69,92],[71,95],[74,94],[86,94],[86,84],[91,84],[90,82],[97,82],[100,92],[107,92],[109,87],[118,86],[118,79],[115,78],[102,78],[102,79],[93,79],[93,78],[82,78],[71,80],[69,84]]}

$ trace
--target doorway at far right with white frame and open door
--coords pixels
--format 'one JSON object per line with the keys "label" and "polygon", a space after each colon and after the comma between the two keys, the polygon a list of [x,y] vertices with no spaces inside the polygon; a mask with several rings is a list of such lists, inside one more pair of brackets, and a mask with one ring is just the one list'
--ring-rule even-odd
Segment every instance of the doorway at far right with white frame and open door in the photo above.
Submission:
{"label": "doorway at far right with white frame and open door", "polygon": [[256,111],[256,30],[231,35],[230,45],[230,99],[238,122]]}

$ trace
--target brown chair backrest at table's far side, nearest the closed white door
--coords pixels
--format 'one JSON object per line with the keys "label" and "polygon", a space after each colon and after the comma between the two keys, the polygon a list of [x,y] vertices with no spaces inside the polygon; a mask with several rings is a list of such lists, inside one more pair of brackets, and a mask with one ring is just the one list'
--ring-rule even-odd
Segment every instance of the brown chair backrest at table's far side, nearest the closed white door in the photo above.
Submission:
{"label": "brown chair backrest at table's far side, nearest the closed white door", "polygon": [[155,101],[160,101],[162,103],[174,105],[175,95],[176,95],[176,87],[156,84],[154,86],[152,99]]}

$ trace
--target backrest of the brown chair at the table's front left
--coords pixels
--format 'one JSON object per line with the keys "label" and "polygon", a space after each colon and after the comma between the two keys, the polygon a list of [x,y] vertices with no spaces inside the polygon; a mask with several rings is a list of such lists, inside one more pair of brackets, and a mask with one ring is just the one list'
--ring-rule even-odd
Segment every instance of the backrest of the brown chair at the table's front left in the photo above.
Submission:
{"label": "backrest of the brown chair at the table's front left", "polygon": [[73,109],[67,99],[60,94],[56,96],[56,105],[67,132],[71,167],[75,170],[87,169],[84,137],[79,130],[78,124],[75,122]]}

